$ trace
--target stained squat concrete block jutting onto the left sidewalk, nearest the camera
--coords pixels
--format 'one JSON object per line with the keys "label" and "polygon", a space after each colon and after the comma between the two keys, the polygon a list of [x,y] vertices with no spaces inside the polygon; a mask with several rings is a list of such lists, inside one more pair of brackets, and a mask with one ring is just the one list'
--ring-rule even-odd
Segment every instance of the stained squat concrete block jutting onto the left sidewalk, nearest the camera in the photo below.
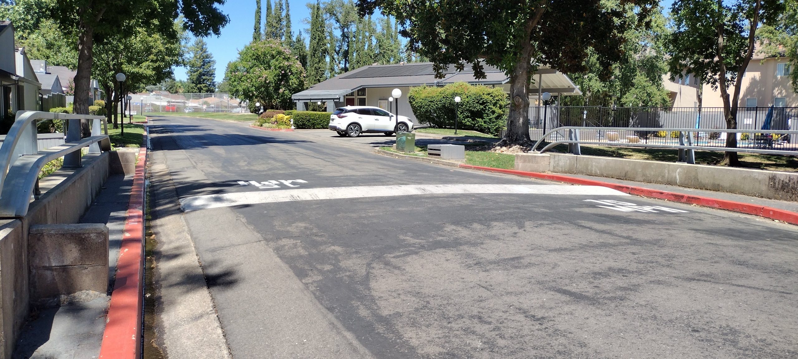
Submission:
{"label": "stained squat concrete block jutting onto the left sidewalk, nearest the camera", "polygon": [[31,301],[108,290],[108,227],[100,223],[30,227]]}

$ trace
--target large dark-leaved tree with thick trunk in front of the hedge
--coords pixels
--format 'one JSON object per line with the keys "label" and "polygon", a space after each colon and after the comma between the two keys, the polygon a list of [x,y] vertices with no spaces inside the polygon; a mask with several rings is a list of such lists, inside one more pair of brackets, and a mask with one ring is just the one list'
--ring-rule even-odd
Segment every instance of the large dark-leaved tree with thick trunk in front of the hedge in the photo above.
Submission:
{"label": "large dark-leaved tree with thick trunk in front of the hedge", "polygon": [[[529,144],[527,128],[531,73],[549,65],[582,72],[588,49],[602,66],[621,57],[623,34],[647,19],[656,0],[359,0],[362,14],[377,8],[402,24],[410,49],[434,62],[442,77],[448,65],[484,64],[510,77],[510,112],[503,144]],[[637,17],[627,16],[634,11]]]}

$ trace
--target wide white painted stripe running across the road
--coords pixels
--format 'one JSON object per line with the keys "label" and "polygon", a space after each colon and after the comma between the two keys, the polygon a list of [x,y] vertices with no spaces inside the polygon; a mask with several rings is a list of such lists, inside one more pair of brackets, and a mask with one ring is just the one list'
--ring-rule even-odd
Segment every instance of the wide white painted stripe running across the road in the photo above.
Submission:
{"label": "wide white painted stripe running across the road", "polygon": [[247,191],[219,195],[197,195],[180,199],[183,211],[197,211],[242,204],[386,197],[394,195],[441,195],[464,193],[513,193],[519,195],[629,195],[608,187],[567,186],[561,184],[406,184],[395,186],[359,186],[301,188],[279,191]]}

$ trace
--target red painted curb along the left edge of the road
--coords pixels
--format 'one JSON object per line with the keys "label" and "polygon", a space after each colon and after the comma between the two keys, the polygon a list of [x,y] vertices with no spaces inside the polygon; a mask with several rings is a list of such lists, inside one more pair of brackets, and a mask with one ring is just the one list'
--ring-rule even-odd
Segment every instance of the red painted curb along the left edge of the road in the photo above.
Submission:
{"label": "red painted curb along the left edge of the road", "polygon": [[117,276],[111,292],[100,357],[137,359],[141,354],[141,315],[144,290],[144,166],[147,148],[140,148],[139,162],[124,221]]}

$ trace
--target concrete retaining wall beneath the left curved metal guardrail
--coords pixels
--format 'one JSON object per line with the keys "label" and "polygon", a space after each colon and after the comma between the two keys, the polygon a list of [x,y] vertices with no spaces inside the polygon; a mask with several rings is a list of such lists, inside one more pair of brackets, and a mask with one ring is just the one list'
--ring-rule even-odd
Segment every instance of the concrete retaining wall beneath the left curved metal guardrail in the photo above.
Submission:
{"label": "concrete retaining wall beneath the left curved metal guardrail", "polygon": [[42,194],[25,218],[0,219],[0,359],[11,357],[30,310],[30,226],[77,223],[108,179],[109,157],[109,152],[89,154],[77,171],[45,177],[39,181]]}

